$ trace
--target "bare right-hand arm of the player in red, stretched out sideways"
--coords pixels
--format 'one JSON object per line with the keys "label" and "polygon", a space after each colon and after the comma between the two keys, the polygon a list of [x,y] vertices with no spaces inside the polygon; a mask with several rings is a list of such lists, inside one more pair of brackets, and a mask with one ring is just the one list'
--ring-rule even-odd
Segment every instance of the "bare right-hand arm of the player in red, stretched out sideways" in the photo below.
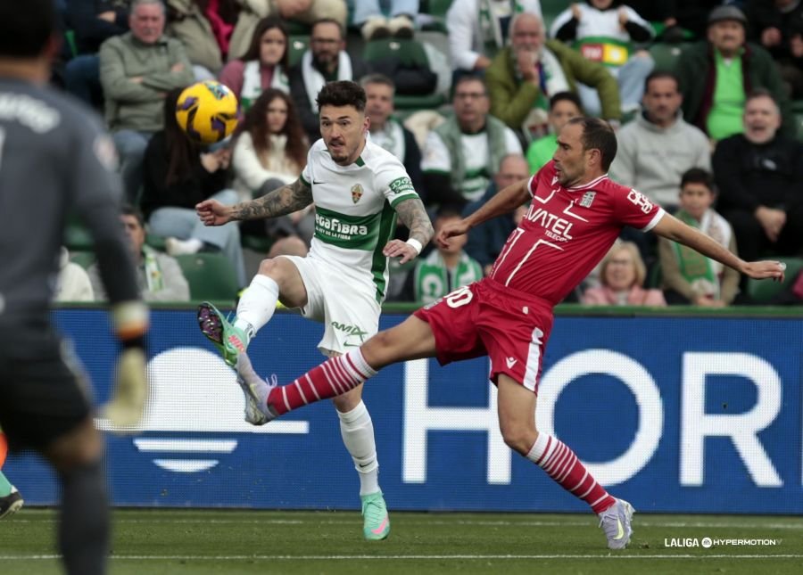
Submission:
{"label": "bare right-hand arm of the player in red, stretched out sideways", "polygon": [[669,214],[665,214],[658,221],[653,231],[668,240],[683,243],[683,245],[689,246],[692,250],[708,256],[708,258],[716,259],[716,261],[725,266],[733,267],[741,274],[749,275],[749,277],[755,279],[773,278],[774,280],[783,280],[783,270],[786,266],[782,262],[773,260],[744,261],[718,242],[709,238],[708,235],[700,233],[700,231],[691,226],[686,226],[682,221]]}

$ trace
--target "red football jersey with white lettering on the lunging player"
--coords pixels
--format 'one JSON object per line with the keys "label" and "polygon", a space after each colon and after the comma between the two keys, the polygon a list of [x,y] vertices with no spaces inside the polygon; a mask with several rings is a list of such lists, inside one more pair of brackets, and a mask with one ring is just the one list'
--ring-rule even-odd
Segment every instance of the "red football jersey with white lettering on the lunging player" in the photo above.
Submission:
{"label": "red football jersey with white lettering on the lunging player", "polygon": [[605,257],[625,226],[646,232],[664,210],[608,175],[565,188],[553,163],[527,183],[533,201],[513,230],[491,277],[553,304],[563,300]]}

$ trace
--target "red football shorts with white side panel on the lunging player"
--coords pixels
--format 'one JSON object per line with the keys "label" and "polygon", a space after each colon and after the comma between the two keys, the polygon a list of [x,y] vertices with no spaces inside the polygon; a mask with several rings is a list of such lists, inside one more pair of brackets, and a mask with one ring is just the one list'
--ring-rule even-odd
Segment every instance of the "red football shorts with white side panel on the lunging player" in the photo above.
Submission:
{"label": "red football shorts with white side panel on the lunging player", "polygon": [[552,330],[550,302],[484,278],[414,315],[432,328],[442,366],[487,355],[493,383],[506,374],[538,392],[543,350]]}

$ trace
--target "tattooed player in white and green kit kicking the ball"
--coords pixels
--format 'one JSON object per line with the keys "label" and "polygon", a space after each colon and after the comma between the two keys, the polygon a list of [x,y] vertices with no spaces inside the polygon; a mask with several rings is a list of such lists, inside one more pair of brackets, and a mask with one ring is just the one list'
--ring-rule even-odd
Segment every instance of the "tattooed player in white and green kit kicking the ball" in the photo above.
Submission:
{"label": "tattooed player in white and green kit kicking the ball", "polygon": [[[370,119],[365,102],[358,84],[328,83],[318,94],[322,139],[310,148],[298,180],[235,206],[214,200],[196,206],[204,224],[222,226],[237,219],[277,218],[315,203],[315,235],[307,257],[263,260],[232,323],[210,303],[198,308],[201,331],[229,365],[269,322],[277,301],[325,324],[319,342],[325,355],[359,347],[378,331],[387,259],[408,262],[432,237],[432,224],[402,162],[366,140]],[[410,230],[407,242],[392,239],[397,215]],[[244,393],[245,420],[266,423],[250,393]],[[363,535],[377,540],[388,536],[390,521],[379,489],[374,427],[361,396],[357,387],[333,401],[360,476]]]}

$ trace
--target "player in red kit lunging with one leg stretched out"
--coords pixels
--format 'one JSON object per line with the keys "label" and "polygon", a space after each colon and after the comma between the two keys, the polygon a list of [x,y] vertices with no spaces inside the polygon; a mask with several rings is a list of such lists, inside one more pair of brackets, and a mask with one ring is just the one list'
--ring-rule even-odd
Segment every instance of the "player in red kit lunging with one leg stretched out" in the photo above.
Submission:
{"label": "player in red kit lunging with one leg stretched out", "polygon": [[535,426],[535,400],[552,308],[591,272],[624,226],[652,230],[755,278],[782,279],[777,261],[748,263],[667,214],[641,193],[608,178],[617,139],[608,124],[575,118],[560,131],[553,160],[534,177],[497,193],[476,212],[444,226],[436,241],[531,201],[483,280],[418,309],[377,333],[360,349],[333,357],[294,382],[261,381],[245,354],[237,360],[246,400],[269,420],[319,399],[340,395],[393,363],[437,357],[442,364],[487,355],[499,390],[499,424],[509,448],[540,466],[600,516],[611,549],[632,534],[633,507],[594,480],[571,448]]}

